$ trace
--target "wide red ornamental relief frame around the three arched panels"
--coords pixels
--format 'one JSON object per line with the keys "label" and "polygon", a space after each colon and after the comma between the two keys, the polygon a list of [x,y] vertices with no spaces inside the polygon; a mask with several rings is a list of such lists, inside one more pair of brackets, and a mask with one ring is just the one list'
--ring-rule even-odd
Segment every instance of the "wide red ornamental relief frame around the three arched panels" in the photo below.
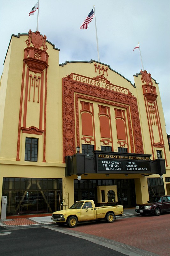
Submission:
{"label": "wide red ornamental relief frame around the three arched panels", "polygon": [[[100,76],[96,77],[96,80]],[[85,90],[86,88],[86,90]],[[93,100],[102,104],[110,104],[112,106],[123,107],[127,109],[129,134],[132,153],[143,154],[143,142],[140,128],[140,120],[138,114],[137,100],[130,93],[122,95],[119,92],[111,92],[105,88],[99,88],[95,85],[84,84],[72,80],[72,74],[69,78],[63,78],[63,162],[65,156],[75,154],[77,145],[80,145],[79,140],[79,116],[78,116],[78,99]],[[75,104],[74,104],[74,93]],[[80,93],[80,94],[79,94]],[[68,100],[69,99],[69,100]],[[111,101],[108,101],[111,100]],[[126,103],[126,105],[124,105]],[[75,105],[75,108],[74,108]],[[76,127],[75,120],[76,117]],[[131,122],[132,120],[132,122]],[[76,136],[75,136],[76,134]],[[75,141],[75,138],[77,140]],[[133,143],[134,141],[134,143]],[[134,146],[135,145],[135,148]]]}

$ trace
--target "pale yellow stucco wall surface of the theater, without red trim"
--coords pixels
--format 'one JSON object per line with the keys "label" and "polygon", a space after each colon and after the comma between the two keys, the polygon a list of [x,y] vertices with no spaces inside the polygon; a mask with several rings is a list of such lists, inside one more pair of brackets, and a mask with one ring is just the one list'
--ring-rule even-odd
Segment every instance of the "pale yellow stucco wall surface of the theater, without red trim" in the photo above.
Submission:
{"label": "pale yellow stucco wall surface of the theater, without red trim", "polygon": [[[43,159],[43,136],[34,135],[39,138],[38,162],[25,162],[25,137],[26,133],[21,132],[20,138],[20,161],[16,161],[17,155],[17,139],[18,139],[18,123],[19,123],[19,105],[21,94],[22,70],[24,49],[27,47],[25,41],[28,35],[20,35],[20,37],[12,36],[12,40],[8,49],[8,53],[4,63],[4,71],[1,79],[0,87],[0,200],[2,198],[2,182],[3,177],[26,177],[26,178],[62,178],[65,179],[66,193],[69,193],[69,206],[74,201],[74,179],[75,175],[65,177],[65,164],[63,161],[63,119],[62,119],[62,78],[70,75],[72,72],[81,76],[96,77],[99,76],[99,71],[95,72],[94,63],[98,62],[72,62],[65,65],[59,65],[59,50],[54,49],[53,45],[46,42],[48,47],[48,75],[44,76],[47,80],[47,113],[46,113],[46,163]],[[32,45],[30,45],[32,46]],[[108,67],[108,76],[104,76],[114,85],[129,89],[137,98],[139,118],[141,124],[143,148],[145,154],[152,154],[151,141],[148,128],[148,120],[146,115],[141,75],[134,76],[135,87],[130,81],[123,76],[111,70],[105,64],[101,66]],[[102,74],[102,72],[101,72]],[[25,71],[26,76],[26,71]],[[166,137],[165,120],[161,104],[158,84],[152,79],[153,85],[156,86],[158,94],[157,104],[161,120],[162,134],[166,149],[166,174],[164,176],[165,192],[166,183],[165,177],[170,177],[170,154]],[[24,103],[23,103],[24,104]],[[97,103],[96,103],[97,104]],[[126,104],[126,103],[125,103]],[[109,104],[108,104],[109,105]],[[44,107],[44,106],[43,106]],[[23,106],[22,106],[23,110]],[[80,111],[80,109],[79,109]],[[95,118],[98,118],[98,112],[95,110]],[[29,122],[31,120],[31,113]],[[97,116],[97,117],[96,117]],[[112,116],[112,118],[114,118]],[[23,111],[22,111],[23,120]],[[80,120],[79,120],[80,121]],[[21,122],[22,123],[22,122]],[[30,122],[31,125],[31,122]],[[113,124],[114,127],[114,124]],[[96,133],[96,148],[100,148],[99,125],[95,127]],[[114,136],[113,136],[114,140]],[[116,140],[113,145],[116,145]],[[159,150],[160,148],[155,148]],[[114,148],[115,150],[115,148]],[[152,159],[152,157],[151,157]],[[159,175],[150,175],[151,177],[159,177]],[[125,179],[124,174],[110,174],[109,179]],[[108,179],[107,178],[107,179]],[[106,179],[105,174],[88,174],[82,179]],[[126,179],[135,179],[136,200],[137,203],[144,203],[149,199],[147,188],[147,177],[142,177],[140,174],[128,174]]]}

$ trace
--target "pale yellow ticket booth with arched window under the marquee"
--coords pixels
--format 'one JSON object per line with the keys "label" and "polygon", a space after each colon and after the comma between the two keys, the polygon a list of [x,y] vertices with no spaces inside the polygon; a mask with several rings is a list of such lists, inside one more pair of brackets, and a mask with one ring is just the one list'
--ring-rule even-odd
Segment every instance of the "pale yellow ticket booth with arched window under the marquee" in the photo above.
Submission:
{"label": "pale yellow ticket booth with arched window under the marquee", "polygon": [[98,186],[97,203],[101,206],[116,205],[118,203],[117,186]]}

